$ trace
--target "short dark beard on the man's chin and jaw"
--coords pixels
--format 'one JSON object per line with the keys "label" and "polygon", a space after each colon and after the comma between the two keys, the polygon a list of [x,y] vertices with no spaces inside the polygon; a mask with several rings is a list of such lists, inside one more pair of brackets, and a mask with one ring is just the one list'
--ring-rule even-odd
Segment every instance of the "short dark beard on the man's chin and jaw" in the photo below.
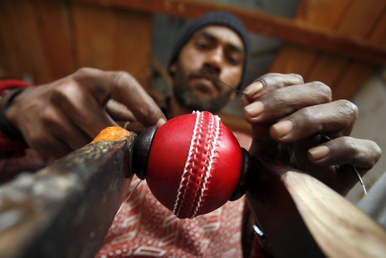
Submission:
{"label": "short dark beard on the man's chin and jaw", "polygon": [[231,91],[220,92],[216,98],[210,98],[208,95],[199,94],[191,89],[187,83],[175,84],[173,93],[179,105],[191,111],[209,111],[216,113],[229,101]]}

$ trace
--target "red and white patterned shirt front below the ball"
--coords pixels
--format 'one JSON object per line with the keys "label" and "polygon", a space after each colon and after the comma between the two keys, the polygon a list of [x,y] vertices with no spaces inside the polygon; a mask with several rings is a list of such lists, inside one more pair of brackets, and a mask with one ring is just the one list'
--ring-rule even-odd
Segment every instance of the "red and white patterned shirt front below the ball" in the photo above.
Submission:
{"label": "red and white patterned shirt front below the ball", "polygon": [[[138,181],[133,179],[128,192]],[[141,182],[120,207],[97,257],[242,257],[244,201],[181,220]]]}

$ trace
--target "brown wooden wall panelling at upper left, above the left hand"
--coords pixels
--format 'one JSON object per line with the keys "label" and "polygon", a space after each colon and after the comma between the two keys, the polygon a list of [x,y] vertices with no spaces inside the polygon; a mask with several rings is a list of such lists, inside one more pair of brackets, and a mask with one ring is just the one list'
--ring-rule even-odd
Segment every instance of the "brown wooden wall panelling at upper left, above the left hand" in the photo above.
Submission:
{"label": "brown wooden wall panelling at upper left, above the left hand", "polygon": [[80,67],[124,70],[146,85],[152,19],[148,12],[50,0],[0,1],[2,77],[41,84]]}

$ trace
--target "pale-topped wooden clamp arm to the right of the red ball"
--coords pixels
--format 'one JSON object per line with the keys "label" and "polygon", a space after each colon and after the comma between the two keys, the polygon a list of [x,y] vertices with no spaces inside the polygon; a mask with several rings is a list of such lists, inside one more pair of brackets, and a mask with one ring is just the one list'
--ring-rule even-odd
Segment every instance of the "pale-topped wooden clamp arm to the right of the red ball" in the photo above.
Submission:
{"label": "pale-topped wooden clamp arm to the right of the red ball", "polygon": [[254,167],[247,197],[274,256],[384,257],[386,231],[337,192],[275,160]]}

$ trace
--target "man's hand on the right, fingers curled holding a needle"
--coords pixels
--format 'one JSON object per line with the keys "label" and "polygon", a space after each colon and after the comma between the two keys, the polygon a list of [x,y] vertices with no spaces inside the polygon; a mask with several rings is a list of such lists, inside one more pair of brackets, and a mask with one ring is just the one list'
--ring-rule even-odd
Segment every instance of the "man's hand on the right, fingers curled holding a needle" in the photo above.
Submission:
{"label": "man's hand on the right, fingers curled holding a needle", "polygon": [[269,73],[244,93],[248,96],[241,102],[244,118],[252,124],[252,155],[281,159],[342,195],[358,182],[347,164],[363,175],[381,155],[375,142],[350,137],[358,109],[348,100],[332,101],[324,83]]}

